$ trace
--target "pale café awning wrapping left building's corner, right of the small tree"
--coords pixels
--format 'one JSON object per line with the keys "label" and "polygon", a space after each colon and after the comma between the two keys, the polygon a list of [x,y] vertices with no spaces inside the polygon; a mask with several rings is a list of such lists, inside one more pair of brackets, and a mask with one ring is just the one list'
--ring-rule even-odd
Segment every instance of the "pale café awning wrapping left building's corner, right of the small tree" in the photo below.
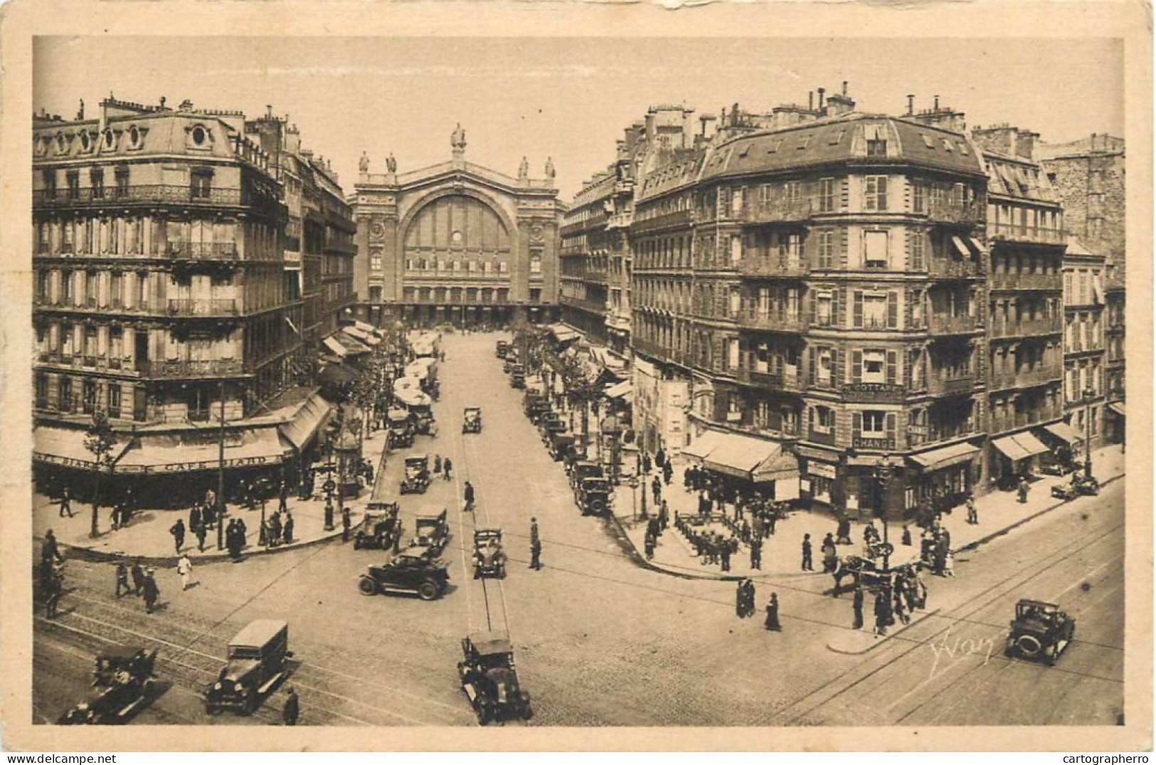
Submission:
{"label": "pale caf\u00e9 awning wrapping left building's corner, right of the small tree", "polygon": [[[117,462],[117,473],[163,475],[215,470],[221,465],[220,446],[212,431],[142,436],[140,446],[125,452]],[[273,428],[225,432],[225,468],[274,466],[283,459],[284,446]]]}

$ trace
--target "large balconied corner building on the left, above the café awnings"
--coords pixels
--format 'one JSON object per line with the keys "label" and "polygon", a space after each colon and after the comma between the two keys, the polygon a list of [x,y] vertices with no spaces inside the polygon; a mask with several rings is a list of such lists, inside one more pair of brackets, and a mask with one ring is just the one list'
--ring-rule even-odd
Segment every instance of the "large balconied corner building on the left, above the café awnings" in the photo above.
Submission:
{"label": "large balconied corner building on the left, above the caf\u00e9 awnings", "polygon": [[162,446],[197,441],[222,396],[238,443],[259,441],[232,454],[280,461],[275,433],[239,429],[291,385],[298,347],[286,207],[244,122],[112,97],[92,118],[34,118],[37,463],[90,469],[83,426],[103,409],[135,447],[124,473],[194,469]]}

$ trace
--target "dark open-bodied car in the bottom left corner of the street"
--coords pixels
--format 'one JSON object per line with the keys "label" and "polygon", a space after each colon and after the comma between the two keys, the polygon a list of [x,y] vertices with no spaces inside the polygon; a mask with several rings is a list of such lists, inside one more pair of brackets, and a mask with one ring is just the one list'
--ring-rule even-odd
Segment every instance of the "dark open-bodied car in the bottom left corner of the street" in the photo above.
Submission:
{"label": "dark open-bodied car in the bottom left corner of the street", "polygon": [[156,651],[113,645],[97,654],[92,690],[57,721],[59,725],[118,725],[127,722],[148,700]]}

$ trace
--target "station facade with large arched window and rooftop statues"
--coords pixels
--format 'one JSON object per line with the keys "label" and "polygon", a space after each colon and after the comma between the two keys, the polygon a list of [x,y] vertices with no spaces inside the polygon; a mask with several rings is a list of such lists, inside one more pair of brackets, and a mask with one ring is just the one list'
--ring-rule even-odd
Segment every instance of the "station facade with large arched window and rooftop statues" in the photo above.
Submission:
{"label": "station facade with large arched window and rooftop statues", "polygon": [[467,162],[465,131],[452,158],[385,173],[363,157],[353,199],[357,221],[358,314],[373,325],[505,326],[558,315],[558,228],[554,166],[531,178]]}

